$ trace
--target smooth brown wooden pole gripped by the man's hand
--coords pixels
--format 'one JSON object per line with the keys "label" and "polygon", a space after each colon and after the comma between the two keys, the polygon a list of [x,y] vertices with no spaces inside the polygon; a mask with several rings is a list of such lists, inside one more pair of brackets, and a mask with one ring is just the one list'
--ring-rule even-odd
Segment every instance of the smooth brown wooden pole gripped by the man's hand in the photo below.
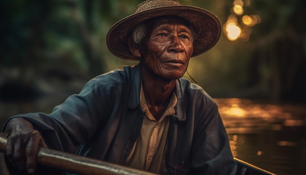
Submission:
{"label": "smooth brown wooden pole gripped by the man's hand", "polygon": [[[6,138],[1,133],[0,152],[5,153],[5,151]],[[40,148],[37,161],[42,165],[81,175],[156,175],[106,161],[46,148]]]}

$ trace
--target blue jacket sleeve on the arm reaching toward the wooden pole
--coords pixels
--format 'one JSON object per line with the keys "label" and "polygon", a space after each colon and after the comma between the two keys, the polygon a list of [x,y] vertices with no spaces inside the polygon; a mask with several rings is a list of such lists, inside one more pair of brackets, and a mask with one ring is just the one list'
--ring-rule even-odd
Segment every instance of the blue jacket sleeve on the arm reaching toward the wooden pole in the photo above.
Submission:
{"label": "blue jacket sleeve on the arm reaching toward the wooden pole", "polygon": [[79,94],[68,97],[50,114],[27,113],[11,118],[22,117],[31,122],[42,133],[49,148],[75,153],[107,120],[110,87],[101,86],[98,80],[90,80]]}

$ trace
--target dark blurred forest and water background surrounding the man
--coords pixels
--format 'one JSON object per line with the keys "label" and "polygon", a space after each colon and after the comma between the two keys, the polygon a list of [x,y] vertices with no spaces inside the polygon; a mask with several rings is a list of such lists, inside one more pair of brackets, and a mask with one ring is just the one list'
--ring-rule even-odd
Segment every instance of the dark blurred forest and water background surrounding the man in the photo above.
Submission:
{"label": "dark blurred forest and water background surrounding the man", "polygon": [[[0,0],[0,126],[19,113],[51,112],[94,76],[137,64],[114,57],[105,39],[141,1]],[[219,42],[188,72],[219,104],[234,156],[279,175],[305,173],[306,1],[180,2],[222,24]],[[245,15],[258,21],[243,24]],[[226,33],[231,19],[236,40]]]}

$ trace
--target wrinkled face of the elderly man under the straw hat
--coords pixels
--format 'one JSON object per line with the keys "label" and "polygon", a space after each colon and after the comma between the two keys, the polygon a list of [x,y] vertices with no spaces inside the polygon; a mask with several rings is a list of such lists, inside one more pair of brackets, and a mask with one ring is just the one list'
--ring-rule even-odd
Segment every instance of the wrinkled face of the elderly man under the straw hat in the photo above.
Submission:
{"label": "wrinkled face of the elderly man under the straw hat", "polygon": [[167,80],[181,78],[193,53],[193,36],[185,21],[167,17],[149,22],[140,44],[141,61],[153,74]]}

